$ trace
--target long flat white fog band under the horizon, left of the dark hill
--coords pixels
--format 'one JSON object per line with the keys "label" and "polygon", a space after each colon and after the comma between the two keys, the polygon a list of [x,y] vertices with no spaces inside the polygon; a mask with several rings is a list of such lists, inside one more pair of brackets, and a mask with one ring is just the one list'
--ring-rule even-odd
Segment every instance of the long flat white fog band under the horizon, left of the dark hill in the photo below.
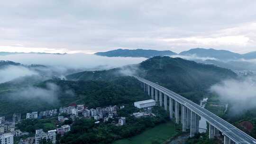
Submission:
{"label": "long flat white fog band under the horizon, left of the dark hill", "polygon": [[13,54],[0,56],[0,60],[9,60],[22,64],[43,64],[56,69],[109,69],[127,64],[140,63],[146,58],[105,57],[94,54]]}

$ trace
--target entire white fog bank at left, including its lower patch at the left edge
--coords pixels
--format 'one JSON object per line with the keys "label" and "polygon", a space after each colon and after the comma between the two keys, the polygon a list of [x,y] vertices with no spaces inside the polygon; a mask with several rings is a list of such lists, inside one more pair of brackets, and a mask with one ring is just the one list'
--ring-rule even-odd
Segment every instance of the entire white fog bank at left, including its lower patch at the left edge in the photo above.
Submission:
{"label": "entire white fog bank at left, including its lower patch at the left edge", "polygon": [[[65,75],[82,71],[99,71],[137,64],[146,58],[105,57],[94,54],[11,54],[0,60],[25,64],[0,69],[0,83],[23,76],[41,75],[44,79],[65,78]],[[30,64],[40,64],[28,66]],[[42,65],[42,66],[41,66]],[[130,75],[130,74],[128,74]]]}

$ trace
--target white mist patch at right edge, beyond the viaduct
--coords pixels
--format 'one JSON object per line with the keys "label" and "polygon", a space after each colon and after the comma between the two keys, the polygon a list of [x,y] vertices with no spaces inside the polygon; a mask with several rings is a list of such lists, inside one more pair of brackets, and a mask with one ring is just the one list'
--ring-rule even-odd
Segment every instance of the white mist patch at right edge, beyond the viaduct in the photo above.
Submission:
{"label": "white mist patch at right edge, beyond the viaduct", "polygon": [[[256,108],[256,79],[226,80],[213,85],[210,90],[231,103],[232,114]],[[238,108],[239,107],[239,108]]]}

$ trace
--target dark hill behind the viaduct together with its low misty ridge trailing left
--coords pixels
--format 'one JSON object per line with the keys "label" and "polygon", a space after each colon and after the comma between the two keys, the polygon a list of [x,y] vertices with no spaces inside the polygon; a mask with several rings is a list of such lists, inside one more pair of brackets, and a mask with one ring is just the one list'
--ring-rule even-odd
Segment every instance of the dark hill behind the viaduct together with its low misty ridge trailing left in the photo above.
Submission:
{"label": "dark hill behind the viaduct together with its low misty ridge trailing left", "polygon": [[235,78],[231,70],[195,63],[181,58],[156,56],[146,61],[108,71],[79,72],[66,76],[69,80],[111,80],[124,75],[138,75],[158,82],[175,92],[206,90],[223,79]]}

